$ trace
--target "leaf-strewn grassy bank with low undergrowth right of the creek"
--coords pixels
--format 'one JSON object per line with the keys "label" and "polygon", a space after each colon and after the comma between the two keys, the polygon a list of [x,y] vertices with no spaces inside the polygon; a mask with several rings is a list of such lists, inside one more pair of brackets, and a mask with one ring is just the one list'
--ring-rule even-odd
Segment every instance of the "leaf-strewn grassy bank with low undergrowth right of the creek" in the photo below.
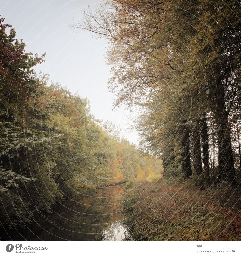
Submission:
{"label": "leaf-strewn grassy bank with low undergrowth right of the creek", "polygon": [[192,180],[161,178],[127,189],[123,204],[133,240],[241,239],[240,188],[225,182],[201,190]]}

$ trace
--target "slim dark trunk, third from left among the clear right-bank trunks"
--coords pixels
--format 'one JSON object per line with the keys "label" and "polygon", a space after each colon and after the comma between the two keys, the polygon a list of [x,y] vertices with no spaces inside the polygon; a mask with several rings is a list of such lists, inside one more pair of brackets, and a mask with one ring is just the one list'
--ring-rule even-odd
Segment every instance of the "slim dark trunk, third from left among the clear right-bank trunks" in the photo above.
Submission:
{"label": "slim dark trunk, third from left among the clear right-bank trunks", "polygon": [[207,117],[204,115],[202,119],[202,153],[203,153],[203,169],[204,169],[204,180],[209,186],[210,174],[209,174],[209,143],[208,143],[208,127]]}

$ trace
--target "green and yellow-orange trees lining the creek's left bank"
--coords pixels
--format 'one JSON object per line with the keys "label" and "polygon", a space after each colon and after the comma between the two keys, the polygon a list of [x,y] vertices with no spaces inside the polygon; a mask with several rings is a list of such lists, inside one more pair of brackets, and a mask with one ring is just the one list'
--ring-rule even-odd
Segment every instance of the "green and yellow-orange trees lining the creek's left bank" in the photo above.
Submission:
{"label": "green and yellow-orange trees lining the creek's left bank", "polygon": [[146,161],[153,171],[161,166],[96,120],[88,100],[37,77],[33,68],[44,55],[26,53],[3,18],[0,37],[2,228],[34,222],[36,208],[48,216],[56,202],[148,175]]}

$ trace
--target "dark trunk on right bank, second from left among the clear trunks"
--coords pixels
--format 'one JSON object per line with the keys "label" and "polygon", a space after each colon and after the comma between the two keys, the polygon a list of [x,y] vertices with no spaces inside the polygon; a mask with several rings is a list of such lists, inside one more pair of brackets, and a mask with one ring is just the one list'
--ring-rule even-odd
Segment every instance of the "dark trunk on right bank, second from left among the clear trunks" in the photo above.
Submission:
{"label": "dark trunk on right bank, second from left among the clear trunks", "polygon": [[201,158],[201,141],[200,141],[200,125],[199,122],[193,129],[193,157],[194,172],[202,174],[202,158]]}

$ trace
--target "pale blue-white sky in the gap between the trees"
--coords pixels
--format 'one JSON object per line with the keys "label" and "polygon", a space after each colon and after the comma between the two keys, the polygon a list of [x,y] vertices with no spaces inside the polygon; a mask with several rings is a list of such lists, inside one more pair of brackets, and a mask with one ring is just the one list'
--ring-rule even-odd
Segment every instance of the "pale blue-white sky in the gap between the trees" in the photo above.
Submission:
{"label": "pale blue-white sky in the gap between the trees", "polygon": [[111,76],[105,61],[108,44],[88,32],[74,31],[73,21],[81,21],[82,11],[95,9],[94,0],[1,0],[0,14],[5,23],[16,30],[17,39],[26,43],[26,52],[47,53],[45,62],[36,67],[50,74],[50,81],[59,82],[71,92],[90,100],[91,113],[98,119],[111,121],[121,127],[121,136],[138,144],[134,129],[134,114],[121,108],[113,111],[114,94],[108,91]]}

